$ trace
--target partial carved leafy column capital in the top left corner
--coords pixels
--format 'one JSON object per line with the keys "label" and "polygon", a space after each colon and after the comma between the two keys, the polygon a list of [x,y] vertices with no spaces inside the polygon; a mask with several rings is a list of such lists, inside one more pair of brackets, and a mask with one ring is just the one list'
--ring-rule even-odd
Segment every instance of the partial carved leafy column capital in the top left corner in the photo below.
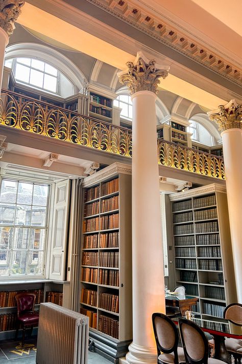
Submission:
{"label": "partial carved leafy column capital in the top left corner", "polygon": [[21,13],[23,0],[2,0],[0,5],[0,27],[10,36],[15,29],[14,22]]}

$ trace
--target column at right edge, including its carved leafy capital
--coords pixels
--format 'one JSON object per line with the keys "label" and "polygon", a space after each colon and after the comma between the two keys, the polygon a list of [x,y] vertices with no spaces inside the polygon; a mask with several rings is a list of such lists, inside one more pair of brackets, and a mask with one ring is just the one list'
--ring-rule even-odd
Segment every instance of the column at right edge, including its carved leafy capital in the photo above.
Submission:
{"label": "column at right edge, including its carved leafy capital", "polygon": [[242,303],[242,105],[231,100],[208,115],[222,131],[235,282]]}

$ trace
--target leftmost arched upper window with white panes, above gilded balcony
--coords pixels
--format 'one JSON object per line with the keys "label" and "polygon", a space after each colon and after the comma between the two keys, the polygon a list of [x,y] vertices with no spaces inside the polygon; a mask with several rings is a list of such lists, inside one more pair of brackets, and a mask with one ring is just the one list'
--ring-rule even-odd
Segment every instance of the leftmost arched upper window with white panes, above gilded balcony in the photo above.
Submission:
{"label": "leftmost arched upper window with white panes, above gilded balcony", "polygon": [[14,74],[18,81],[57,93],[58,71],[48,63],[35,58],[16,58]]}

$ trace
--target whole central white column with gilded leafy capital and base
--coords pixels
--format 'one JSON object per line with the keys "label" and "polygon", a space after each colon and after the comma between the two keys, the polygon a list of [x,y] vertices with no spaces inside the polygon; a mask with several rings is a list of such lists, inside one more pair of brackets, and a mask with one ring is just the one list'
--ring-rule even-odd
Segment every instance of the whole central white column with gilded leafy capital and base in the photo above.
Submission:
{"label": "whole central white column with gilded leafy capital and base", "polygon": [[157,362],[151,316],[165,312],[155,101],[159,78],[167,76],[169,67],[155,63],[138,53],[118,74],[133,101],[133,342],[126,355],[132,364]]}

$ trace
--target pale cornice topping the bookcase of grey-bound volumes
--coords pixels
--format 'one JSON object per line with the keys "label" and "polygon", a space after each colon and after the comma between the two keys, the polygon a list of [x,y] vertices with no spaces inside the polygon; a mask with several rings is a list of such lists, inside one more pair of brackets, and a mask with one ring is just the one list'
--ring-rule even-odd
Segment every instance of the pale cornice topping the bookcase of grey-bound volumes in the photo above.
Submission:
{"label": "pale cornice topping the bookcase of grey-bound volumes", "polygon": [[177,192],[176,194],[169,195],[170,201],[184,200],[187,197],[196,197],[205,194],[211,194],[212,192],[222,192],[226,194],[226,188],[220,184],[212,183],[206,186],[189,189],[185,192]]}

